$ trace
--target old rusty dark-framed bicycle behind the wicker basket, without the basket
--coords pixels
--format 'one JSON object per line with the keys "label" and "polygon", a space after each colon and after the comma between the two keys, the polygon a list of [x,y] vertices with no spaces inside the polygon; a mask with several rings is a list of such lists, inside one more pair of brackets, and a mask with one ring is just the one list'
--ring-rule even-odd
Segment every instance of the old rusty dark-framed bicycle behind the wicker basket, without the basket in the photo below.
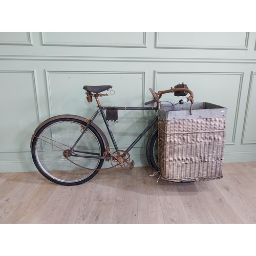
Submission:
{"label": "old rusty dark-framed bicycle behind the wicker basket, without the basket", "polygon": [[[145,105],[157,102],[157,106],[101,106],[99,97],[109,96],[102,92],[112,88],[109,85],[83,87],[86,90],[88,102],[91,103],[95,98],[98,104],[98,110],[90,119],[77,115],[58,115],[45,120],[36,128],[30,144],[32,159],[36,168],[45,178],[60,185],[79,185],[91,180],[102,169],[134,168],[134,161],[131,161],[129,152],[157,122],[158,117],[148,124],[125,151],[119,150],[108,121],[117,121],[118,110],[157,111],[159,108],[163,108],[159,99],[165,93],[175,93],[175,96],[185,96],[189,93],[189,97],[178,102],[180,104],[190,101],[192,105],[194,97],[193,92],[187,88],[186,84],[182,83],[158,93],[150,89],[154,99],[146,102]],[[115,148],[114,152],[110,151],[110,144],[105,134],[93,122],[98,114],[101,114],[103,118]],[[146,144],[148,164],[156,172],[158,172],[157,138],[158,127],[154,129]],[[101,168],[104,161],[110,162],[111,167]]]}

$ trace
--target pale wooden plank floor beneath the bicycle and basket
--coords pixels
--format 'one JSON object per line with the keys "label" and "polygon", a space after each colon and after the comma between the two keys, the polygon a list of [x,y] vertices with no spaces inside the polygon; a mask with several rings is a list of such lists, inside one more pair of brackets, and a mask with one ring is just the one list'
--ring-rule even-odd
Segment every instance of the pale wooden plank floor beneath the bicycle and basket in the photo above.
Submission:
{"label": "pale wooden plank floor beneath the bicycle and basket", "polygon": [[171,183],[149,167],[104,170],[78,186],[40,173],[0,174],[0,223],[256,223],[256,162],[223,179]]}

